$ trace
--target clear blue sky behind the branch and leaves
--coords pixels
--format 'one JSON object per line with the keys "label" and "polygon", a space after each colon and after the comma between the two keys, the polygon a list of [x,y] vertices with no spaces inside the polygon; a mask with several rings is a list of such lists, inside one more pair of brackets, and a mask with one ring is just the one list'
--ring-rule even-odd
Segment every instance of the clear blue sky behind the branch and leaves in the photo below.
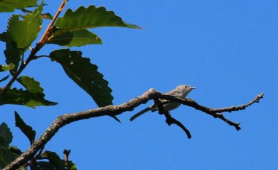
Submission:
{"label": "clear blue sky behind the branch and leaves", "polygon": [[[45,3],[45,11],[54,14],[60,1]],[[158,114],[130,122],[129,117],[146,104],[120,115],[122,124],[100,117],[67,125],[45,146],[47,150],[62,156],[64,148],[71,149],[70,160],[79,169],[278,168],[277,0],[69,1],[66,8],[90,4],[105,6],[142,27],[97,28],[92,31],[103,45],[73,48],[99,66],[113,89],[115,105],[151,87],[167,92],[181,84],[197,87],[188,97],[212,108],[247,103],[261,92],[265,97],[246,110],[226,113],[241,123],[239,132],[186,106],[172,115],[190,130],[192,139],[177,126],[167,126]],[[1,14],[1,32],[9,15]],[[60,48],[47,45],[40,54]],[[59,103],[35,110],[1,106],[1,121],[8,123],[13,144],[22,151],[28,140],[15,128],[15,110],[39,137],[58,115],[97,107],[60,65],[47,58],[31,63],[22,75],[39,80],[46,98]]]}

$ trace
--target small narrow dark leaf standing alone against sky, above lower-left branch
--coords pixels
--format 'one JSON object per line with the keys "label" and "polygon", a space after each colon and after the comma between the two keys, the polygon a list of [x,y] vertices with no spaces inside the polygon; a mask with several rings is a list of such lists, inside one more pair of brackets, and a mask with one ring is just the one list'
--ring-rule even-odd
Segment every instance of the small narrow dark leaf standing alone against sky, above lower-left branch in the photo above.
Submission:
{"label": "small narrow dark leaf standing alone against sky, above lower-left branch", "polygon": [[28,126],[17,112],[15,112],[15,126],[22,130],[22,133],[29,139],[30,144],[33,144],[35,141],[35,130]]}

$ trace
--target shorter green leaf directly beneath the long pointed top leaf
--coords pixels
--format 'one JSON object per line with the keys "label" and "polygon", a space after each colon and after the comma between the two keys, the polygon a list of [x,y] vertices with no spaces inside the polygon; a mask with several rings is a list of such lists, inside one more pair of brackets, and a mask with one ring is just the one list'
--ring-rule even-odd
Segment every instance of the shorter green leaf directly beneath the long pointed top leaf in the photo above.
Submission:
{"label": "shorter green leaf directly beneath the long pointed top leaf", "polygon": [[83,46],[86,44],[102,44],[101,39],[88,30],[77,30],[61,33],[47,41],[47,44],[58,44],[60,46]]}

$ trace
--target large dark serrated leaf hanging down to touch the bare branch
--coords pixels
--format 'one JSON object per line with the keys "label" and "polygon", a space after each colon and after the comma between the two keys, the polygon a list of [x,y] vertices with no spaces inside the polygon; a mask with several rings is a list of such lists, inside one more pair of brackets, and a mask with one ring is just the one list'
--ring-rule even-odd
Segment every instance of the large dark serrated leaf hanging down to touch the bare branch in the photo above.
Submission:
{"label": "large dark serrated leaf hanging down to touch the bare branch", "polygon": [[62,65],[67,76],[85,90],[99,107],[112,105],[113,96],[108,81],[104,80],[89,58],[83,58],[81,55],[81,51],[61,49],[50,53],[50,58]]}

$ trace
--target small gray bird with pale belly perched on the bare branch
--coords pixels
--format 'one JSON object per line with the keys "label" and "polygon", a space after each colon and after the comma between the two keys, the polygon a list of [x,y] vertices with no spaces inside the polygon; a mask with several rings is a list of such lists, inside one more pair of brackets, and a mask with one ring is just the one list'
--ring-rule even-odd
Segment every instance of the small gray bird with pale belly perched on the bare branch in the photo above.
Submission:
{"label": "small gray bird with pale belly perched on the bare branch", "polygon": [[[189,85],[179,85],[176,87],[174,90],[171,90],[170,92],[167,92],[166,94],[172,95],[172,96],[179,96],[179,97],[185,97],[191,90],[195,89],[195,87],[190,87]],[[166,100],[161,100],[161,102],[165,102]],[[166,103],[163,105],[165,110],[170,111],[174,110],[175,108],[179,108],[179,105],[181,103],[179,102],[171,102],[171,103]],[[152,112],[157,110],[156,104],[152,104],[151,106],[145,108],[144,110],[136,113],[131,117],[130,121],[133,121],[137,117],[140,117],[140,115],[144,114],[145,112],[152,110]]]}

